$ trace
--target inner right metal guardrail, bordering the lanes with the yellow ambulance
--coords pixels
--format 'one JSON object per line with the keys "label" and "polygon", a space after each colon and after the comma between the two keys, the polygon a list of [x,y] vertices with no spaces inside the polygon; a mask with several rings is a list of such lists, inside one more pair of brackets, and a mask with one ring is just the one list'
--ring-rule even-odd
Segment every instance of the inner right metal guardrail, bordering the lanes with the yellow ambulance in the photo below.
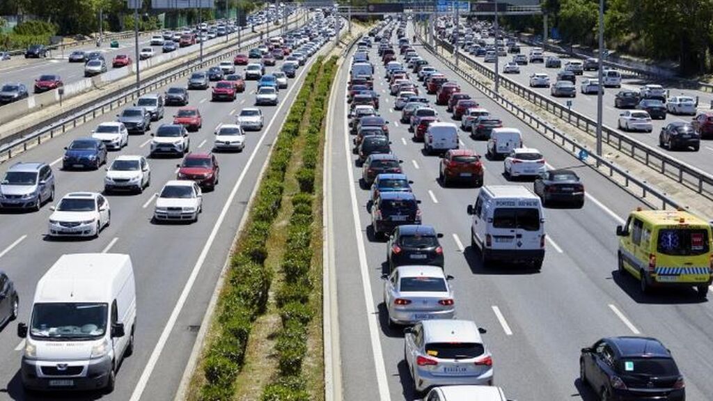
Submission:
{"label": "inner right metal guardrail, bordering the lanes with the yellow ambulance", "polygon": [[[573,141],[572,139],[568,138],[568,136],[565,135],[565,133],[562,133],[562,132],[558,131],[557,129],[553,128],[553,126],[551,126],[550,123],[548,123],[547,121],[544,121],[540,117],[535,116],[533,113],[530,113],[530,111],[527,111],[524,108],[521,108],[520,106],[516,105],[515,103],[509,101],[507,98],[504,98],[503,96],[501,96],[500,93],[496,93],[491,88],[488,88],[483,83],[481,83],[476,78],[474,78],[471,74],[469,74],[467,71],[464,71],[459,66],[456,66],[456,64],[454,64],[452,61],[450,61],[450,60],[444,58],[443,56],[441,56],[440,54],[438,54],[438,52],[436,52],[435,49],[430,44],[427,44],[424,42],[424,48],[426,50],[428,50],[431,54],[436,56],[436,58],[438,58],[443,64],[446,64],[446,66],[448,66],[448,68],[451,68],[451,70],[455,71],[458,74],[458,76],[461,76],[461,78],[466,80],[468,83],[470,83],[471,85],[478,88],[478,91],[483,92],[483,94],[485,94],[489,98],[492,98],[493,100],[500,103],[500,105],[503,106],[503,108],[505,108],[507,111],[512,113],[515,117],[517,117],[521,121],[527,123],[529,126],[533,126],[535,128],[535,130],[537,130],[539,133],[541,133],[546,138],[550,139],[550,141],[552,141],[553,143],[560,146],[560,148],[563,148],[565,151],[573,153],[573,155],[575,157],[582,150],[585,150],[588,153],[590,153],[590,157],[593,159],[594,162],[588,163],[587,161],[584,161],[583,163],[587,163],[590,166],[593,165],[592,167],[595,168],[595,170],[597,170],[597,171],[600,171],[600,168],[602,168],[602,167],[606,168],[608,170],[608,176],[612,179],[612,181],[615,178],[615,176],[619,176],[624,181],[624,186],[626,188],[635,186],[638,188],[638,191],[642,198],[646,198],[647,196],[653,196],[654,198],[657,198],[660,201],[661,207],[664,209],[666,209],[666,208],[675,208],[675,209],[684,208],[683,205],[681,205],[680,203],[677,203],[676,200],[667,196],[666,193],[662,193],[661,191],[657,190],[656,188],[653,188],[652,186],[650,186],[646,181],[640,180],[639,178],[632,176],[624,168],[616,166],[614,163],[607,161],[605,158],[595,155],[594,153],[591,152],[591,150],[587,146],[584,146],[581,143],[578,143],[577,141]],[[605,173],[605,172],[602,172],[602,173]],[[617,181],[615,181],[615,183],[617,183]],[[638,193],[635,191],[631,191],[631,192],[638,195]],[[646,200],[646,199],[644,199],[644,200],[648,202],[648,200]],[[655,206],[655,205],[652,204],[652,206]]]}

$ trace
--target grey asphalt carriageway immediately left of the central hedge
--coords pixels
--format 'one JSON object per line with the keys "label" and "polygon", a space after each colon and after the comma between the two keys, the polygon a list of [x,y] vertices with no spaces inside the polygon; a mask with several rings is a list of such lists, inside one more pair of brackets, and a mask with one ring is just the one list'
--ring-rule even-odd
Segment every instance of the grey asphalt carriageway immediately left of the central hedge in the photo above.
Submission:
{"label": "grey asphalt carriageway immediately left of the central hedge", "polygon": [[[235,236],[247,201],[270,145],[294,97],[299,91],[309,65],[289,79],[289,88],[279,92],[278,106],[262,107],[265,128],[246,134],[245,150],[240,153],[217,153],[220,164],[220,184],[206,192],[203,212],[198,223],[188,225],[156,225],[151,223],[153,202],[166,181],[175,179],[180,158],[150,158],[151,185],[140,195],[107,195],[111,205],[111,225],[93,240],[51,240],[46,237],[48,205],[36,213],[3,213],[0,215],[0,266],[14,280],[20,296],[20,315],[16,322],[0,331],[0,382],[2,400],[46,400],[24,395],[20,380],[20,360],[23,344],[16,337],[18,322],[27,322],[32,297],[39,278],[66,253],[125,253],[131,256],[136,277],[138,318],[135,334],[136,350],[123,362],[117,375],[116,390],[108,400],[172,400],[193,348],[198,328],[215,288],[220,270]],[[275,71],[281,66],[268,67]],[[242,68],[239,68],[242,71]],[[174,86],[184,86],[184,82]],[[202,114],[202,129],[190,133],[191,151],[211,151],[214,130],[223,123],[235,123],[240,110],[255,101],[255,81],[248,81],[244,93],[232,102],[210,101],[210,89],[190,92],[190,106]],[[163,92],[166,88],[159,88]],[[175,107],[167,107],[161,121],[170,123]],[[58,197],[71,191],[103,189],[103,168],[98,171],[61,171],[63,146],[74,138],[88,136],[96,124],[111,121],[106,114],[92,123],[68,131],[61,137],[38,146],[6,163],[4,172],[15,161],[51,163],[56,174]],[[111,152],[109,161],[119,155],[148,155],[149,133],[130,136],[129,145]],[[96,394],[71,395],[71,399],[95,399]]]}

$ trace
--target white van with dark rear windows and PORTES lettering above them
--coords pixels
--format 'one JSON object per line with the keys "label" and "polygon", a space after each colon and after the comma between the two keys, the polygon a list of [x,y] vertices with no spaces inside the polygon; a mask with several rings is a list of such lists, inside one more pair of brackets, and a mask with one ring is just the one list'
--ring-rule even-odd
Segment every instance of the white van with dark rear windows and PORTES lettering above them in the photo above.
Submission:
{"label": "white van with dark rear windows and PORTES lettering above them", "polygon": [[468,205],[471,247],[480,250],[483,267],[491,261],[529,263],[545,259],[545,215],[540,198],[523,186],[484,186]]}

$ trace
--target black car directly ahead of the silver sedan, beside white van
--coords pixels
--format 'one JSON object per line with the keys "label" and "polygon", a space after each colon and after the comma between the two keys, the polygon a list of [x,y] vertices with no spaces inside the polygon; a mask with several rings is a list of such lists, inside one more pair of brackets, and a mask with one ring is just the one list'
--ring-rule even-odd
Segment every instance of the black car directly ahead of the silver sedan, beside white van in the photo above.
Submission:
{"label": "black car directly ahead of the silver sedan, beside white van", "polygon": [[431,225],[399,225],[386,245],[389,273],[403,265],[434,265],[443,268],[443,248],[438,243],[443,234]]}

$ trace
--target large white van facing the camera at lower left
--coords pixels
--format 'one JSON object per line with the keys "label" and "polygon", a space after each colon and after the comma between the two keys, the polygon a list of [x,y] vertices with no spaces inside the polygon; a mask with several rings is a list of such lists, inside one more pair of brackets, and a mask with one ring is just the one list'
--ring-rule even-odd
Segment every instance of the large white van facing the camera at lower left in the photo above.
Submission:
{"label": "large white van facing the camera at lower left", "polygon": [[37,283],[29,324],[17,327],[23,387],[111,392],[135,322],[129,255],[62,255]]}

